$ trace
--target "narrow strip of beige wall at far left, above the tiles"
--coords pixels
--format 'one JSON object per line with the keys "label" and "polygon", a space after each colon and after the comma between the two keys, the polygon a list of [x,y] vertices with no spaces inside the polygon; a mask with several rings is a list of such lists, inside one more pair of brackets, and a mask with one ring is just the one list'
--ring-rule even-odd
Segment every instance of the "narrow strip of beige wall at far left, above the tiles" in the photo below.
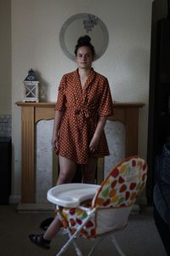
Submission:
{"label": "narrow strip of beige wall at far left, above the tiles", "polygon": [[0,114],[11,113],[11,6],[0,0]]}

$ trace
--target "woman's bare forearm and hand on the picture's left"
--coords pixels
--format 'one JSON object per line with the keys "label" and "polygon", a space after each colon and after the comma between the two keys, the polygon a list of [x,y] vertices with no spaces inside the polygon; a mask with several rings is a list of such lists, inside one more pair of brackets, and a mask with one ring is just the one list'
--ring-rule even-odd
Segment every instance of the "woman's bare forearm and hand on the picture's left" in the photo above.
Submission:
{"label": "woman's bare forearm and hand on the picture's left", "polygon": [[55,111],[53,136],[51,139],[52,147],[54,150],[58,147],[59,127],[60,127],[61,120],[63,118],[64,113],[65,111],[62,111],[62,110]]}

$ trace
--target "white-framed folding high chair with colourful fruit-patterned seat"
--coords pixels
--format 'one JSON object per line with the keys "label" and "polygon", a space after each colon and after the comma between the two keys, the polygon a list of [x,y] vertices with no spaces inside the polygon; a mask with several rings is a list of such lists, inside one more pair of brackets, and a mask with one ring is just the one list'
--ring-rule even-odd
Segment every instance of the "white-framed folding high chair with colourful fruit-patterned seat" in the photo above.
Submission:
{"label": "white-framed folding high chair with colourful fruit-patterned seat", "polygon": [[83,236],[96,239],[94,252],[99,242],[111,236],[118,253],[124,256],[114,232],[127,226],[127,219],[137,195],[146,183],[147,164],[138,156],[128,157],[119,162],[101,183],[69,183],[48,190],[48,201],[54,203],[69,239],[60,249],[59,256],[73,243],[77,255],[82,255],[76,239]]}

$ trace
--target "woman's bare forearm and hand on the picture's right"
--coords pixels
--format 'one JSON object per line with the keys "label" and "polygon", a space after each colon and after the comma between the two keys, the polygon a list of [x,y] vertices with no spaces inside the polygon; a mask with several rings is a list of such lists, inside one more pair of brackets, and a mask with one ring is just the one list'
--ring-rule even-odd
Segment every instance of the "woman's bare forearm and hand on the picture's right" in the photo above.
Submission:
{"label": "woman's bare forearm and hand on the picture's right", "polygon": [[99,121],[98,121],[98,124],[96,126],[96,130],[94,132],[94,137],[92,138],[92,140],[90,142],[90,145],[89,145],[89,149],[92,152],[94,152],[98,148],[99,137],[100,137],[102,131],[104,130],[106,120],[107,120],[107,116],[100,116],[99,117]]}

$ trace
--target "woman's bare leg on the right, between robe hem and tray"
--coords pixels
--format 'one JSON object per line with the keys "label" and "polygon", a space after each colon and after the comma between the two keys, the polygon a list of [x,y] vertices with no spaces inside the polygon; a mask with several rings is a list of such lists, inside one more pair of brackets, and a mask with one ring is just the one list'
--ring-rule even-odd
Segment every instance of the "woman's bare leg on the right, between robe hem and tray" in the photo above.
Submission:
{"label": "woman's bare leg on the right, between robe hem and tray", "polygon": [[82,165],[82,182],[83,183],[95,183],[97,160],[95,158],[89,158],[88,164]]}

